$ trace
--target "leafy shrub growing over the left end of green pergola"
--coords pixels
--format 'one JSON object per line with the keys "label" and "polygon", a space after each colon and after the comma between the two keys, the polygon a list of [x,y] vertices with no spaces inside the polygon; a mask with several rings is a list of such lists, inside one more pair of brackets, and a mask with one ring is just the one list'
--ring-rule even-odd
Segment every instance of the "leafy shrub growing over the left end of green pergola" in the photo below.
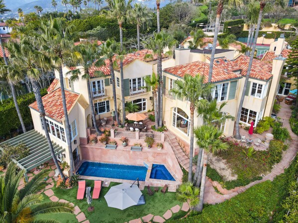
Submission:
{"label": "leafy shrub growing over the left end of green pergola", "polygon": [[26,145],[23,143],[20,143],[14,147],[4,144],[1,147],[3,151],[1,152],[0,156],[0,166],[4,168],[6,168],[8,163],[11,161],[11,156],[13,156],[15,160],[20,160],[29,155],[30,152],[30,149],[27,148]]}

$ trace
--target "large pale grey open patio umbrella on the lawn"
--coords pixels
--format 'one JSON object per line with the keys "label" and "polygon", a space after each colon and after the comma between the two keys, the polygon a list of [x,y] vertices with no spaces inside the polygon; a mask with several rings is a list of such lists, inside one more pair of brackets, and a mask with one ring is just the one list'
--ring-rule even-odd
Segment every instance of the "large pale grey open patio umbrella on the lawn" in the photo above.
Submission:
{"label": "large pale grey open patio umbrella on the lawn", "polygon": [[128,207],[137,205],[142,192],[135,184],[123,183],[111,187],[105,195],[109,207],[124,210]]}

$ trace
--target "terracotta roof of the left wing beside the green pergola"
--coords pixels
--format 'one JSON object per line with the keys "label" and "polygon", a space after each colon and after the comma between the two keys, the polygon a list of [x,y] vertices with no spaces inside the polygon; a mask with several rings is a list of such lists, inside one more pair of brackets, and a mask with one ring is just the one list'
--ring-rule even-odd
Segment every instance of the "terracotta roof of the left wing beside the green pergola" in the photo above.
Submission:
{"label": "terracotta roof of the left wing beside the green pergola", "polygon": [[[67,112],[70,111],[70,109],[76,103],[79,96],[80,95],[75,92],[65,90]],[[58,88],[57,90],[54,90],[53,92],[43,96],[42,102],[45,109],[45,115],[49,118],[54,119],[57,122],[62,123],[64,113],[62,105],[61,88]],[[29,107],[38,111],[36,101],[30,104]]]}

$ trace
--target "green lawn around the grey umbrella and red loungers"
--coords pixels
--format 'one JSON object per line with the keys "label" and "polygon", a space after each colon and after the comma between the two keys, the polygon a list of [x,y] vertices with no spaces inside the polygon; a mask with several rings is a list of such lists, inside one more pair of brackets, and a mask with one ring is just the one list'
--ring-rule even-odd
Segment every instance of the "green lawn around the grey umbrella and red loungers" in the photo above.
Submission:
{"label": "green lawn around the grey umbrella and red loungers", "polygon": [[[87,186],[92,186],[93,188],[93,181],[86,180]],[[118,183],[111,183],[111,186],[115,186]],[[176,200],[175,193],[167,192],[165,195],[161,194],[160,192],[154,193],[154,195],[150,196],[147,193],[147,188],[142,191],[146,204],[141,206],[133,206],[128,209],[125,209],[123,211],[115,208],[109,208],[107,206],[106,200],[104,198],[104,195],[108,192],[110,189],[107,187],[103,187],[102,191],[100,193],[100,197],[98,200],[93,200],[92,206],[95,207],[94,212],[88,212],[88,204],[86,201],[86,198],[83,200],[77,200],[77,187],[74,187],[69,190],[63,190],[58,188],[52,188],[52,190],[55,193],[55,196],[57,196],[59,199],[64,199],[69,202],[74,203],[75,205],[78,205],[79,208],[85,213],[86,218],[90,221],[90,223],[124,223],[128,222],[133,219],[137,219],[143,216],[146,216],[148,214],[152,215],[159,215],[162,216],[168,209],[175,205],[182,206],[182,202],[179,202]],[[151,188],[153,189],[153,188]],[[48,201],[48,198],[45,199],[45,201]],[[179,213],[173,215],[173,219],[177,219],[179,217],[184,216],[186,213],[180,211]],[[61,223],[74,223],[75,217],[71,215],[51,215],[52,218],[55,218],[56,220],[60,221]],[[62,219],[63,218],[63,219]]]}

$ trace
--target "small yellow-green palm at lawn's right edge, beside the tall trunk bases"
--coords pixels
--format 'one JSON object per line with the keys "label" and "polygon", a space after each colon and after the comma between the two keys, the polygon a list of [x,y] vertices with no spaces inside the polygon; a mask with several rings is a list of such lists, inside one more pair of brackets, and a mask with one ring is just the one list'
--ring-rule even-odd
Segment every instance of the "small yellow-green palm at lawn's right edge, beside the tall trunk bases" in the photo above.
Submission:
{"label": "small yellow-green palm at lawn's right edge, beside the tall trunk bases", "polygon": [[176,197],[178,201],[188,202],[189,207],[193,209],[199,203],[200,189],[187,182],[180,185]]}

